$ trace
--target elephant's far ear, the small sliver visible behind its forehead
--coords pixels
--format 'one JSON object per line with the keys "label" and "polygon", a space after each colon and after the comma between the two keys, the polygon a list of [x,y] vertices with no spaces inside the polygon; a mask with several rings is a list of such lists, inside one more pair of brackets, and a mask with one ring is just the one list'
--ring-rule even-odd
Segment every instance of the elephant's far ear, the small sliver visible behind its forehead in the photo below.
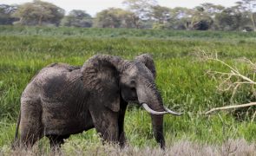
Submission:
{"label": "elephant's far ear, the small sliver visible behind its forehead", "polygon": [[151,55],[149,54],[138,55],[135,57],[135,60],[144,63],[145,66],[152,72],[155,79],[156,71],[154,67],[154,60]]}

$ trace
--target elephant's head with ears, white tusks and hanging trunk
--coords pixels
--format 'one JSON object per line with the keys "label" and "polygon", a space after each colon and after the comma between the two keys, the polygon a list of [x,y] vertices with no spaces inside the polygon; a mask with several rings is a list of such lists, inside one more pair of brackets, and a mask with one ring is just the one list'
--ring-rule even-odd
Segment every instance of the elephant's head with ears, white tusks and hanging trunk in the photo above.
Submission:
{"label": "elephant's head with ears, white tusks and hanging trunk", "polygon": [[106,100],[109,102],[105,102],[105,105],[113,111],[120,109],[120,98],[144,107],[151,114],[154,137],[164,148],[163,114],[181,114],[164,107],[161,94],[154,83],[156,72],[150,55],[137,56],[134,61],[96,55],[83,65],[82,74],[89,76],[84,81],[86,85],[96,84],[93,88],[98,88],[102,96],[108,97]]}

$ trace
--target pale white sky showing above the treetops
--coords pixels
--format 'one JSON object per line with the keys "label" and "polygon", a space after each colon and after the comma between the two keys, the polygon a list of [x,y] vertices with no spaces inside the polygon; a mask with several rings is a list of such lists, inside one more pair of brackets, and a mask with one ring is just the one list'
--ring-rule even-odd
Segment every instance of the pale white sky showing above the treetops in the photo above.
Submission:
{"label": "pale white sky showing above the treetops", "polygon": [[[70,10],[86,10],[91,16],[110,7],[124,8],[121,4],[123,0],[43,0],[49,3],[55,3],[57,6],[69,12]],[[194,8],[200,3],[214,3],[224,6],[233,6],[239,0],[157,0],[161,6],[174,8],[177,6]],[[21,4],[32,2],[32,0],[1,0],[5,4]]]}

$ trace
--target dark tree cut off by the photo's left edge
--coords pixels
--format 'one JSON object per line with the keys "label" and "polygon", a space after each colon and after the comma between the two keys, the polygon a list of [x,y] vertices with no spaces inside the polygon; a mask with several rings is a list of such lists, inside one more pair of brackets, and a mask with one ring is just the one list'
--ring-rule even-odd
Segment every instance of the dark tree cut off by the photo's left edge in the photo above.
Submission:
{"label": "dark tree cut off by the photo's left edge", "polygon": [[16,21],[16,18],[11,16],[16,8],[14,5],[0,4],[0,24],[10,25]]}

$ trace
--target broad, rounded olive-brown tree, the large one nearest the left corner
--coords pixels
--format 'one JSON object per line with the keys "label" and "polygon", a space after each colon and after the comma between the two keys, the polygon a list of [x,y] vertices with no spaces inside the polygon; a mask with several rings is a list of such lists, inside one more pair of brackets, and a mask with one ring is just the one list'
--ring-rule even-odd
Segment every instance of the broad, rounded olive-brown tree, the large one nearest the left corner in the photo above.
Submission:
{"label": "broad, rounded olive-brown tree, the large one nearest the left corner", "polygon": [[20,5],[13,16],[20,19],[22,25],[45,25],[58,26],[65,11],[53,3],[34,0],[32,3]]}

